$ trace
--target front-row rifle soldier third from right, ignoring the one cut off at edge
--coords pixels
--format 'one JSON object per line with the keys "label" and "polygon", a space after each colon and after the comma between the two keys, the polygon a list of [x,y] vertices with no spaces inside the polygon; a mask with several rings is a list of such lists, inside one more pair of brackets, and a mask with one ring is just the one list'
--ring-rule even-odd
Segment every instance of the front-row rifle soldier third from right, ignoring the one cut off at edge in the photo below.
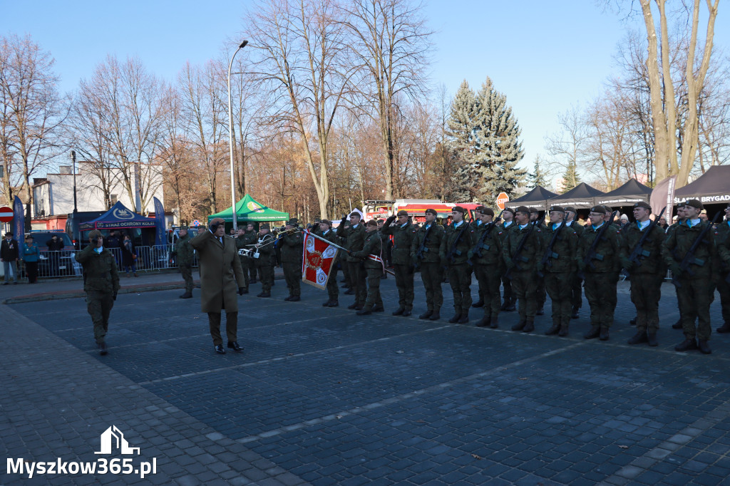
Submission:
{"label": "front-row rifle soldier third from right, ignoring the one cut off at edge", "polygon": [[578,242],[577,266],[583,271],[585,281],[585,298],[591,306],[591,330],[583,336],[585,339],[601,338],[607,341],[610,338],[610,328],[613,324],[613,313],[616,309],[616,285],[618,273],[621,271],[619,258],[618,231],[616,228],[606,228],[603,238],[596,244],[589,263],[586,264],[593,241],[598,237],[605,222],[606,209],[603,206],[591,208],[591,225],[585,228],[583,236]]}

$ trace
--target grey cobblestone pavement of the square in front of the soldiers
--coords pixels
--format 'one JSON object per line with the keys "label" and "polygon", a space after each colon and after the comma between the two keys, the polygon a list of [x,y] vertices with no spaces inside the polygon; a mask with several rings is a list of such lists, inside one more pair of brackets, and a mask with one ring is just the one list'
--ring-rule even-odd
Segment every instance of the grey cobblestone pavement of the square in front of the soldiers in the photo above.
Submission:
{"label": "grey cobblestone pavement of the square in front of the soldiers", "polygon": [[[110,425],[158,474],[39,477],[39,484],[147,481],[258,485],[730,484],[730,337],[677,353],[676,298],[664,285],[660,346],[629,346],[629,285],[609,342],[393,317],[302,301],[240,298],[245,352],[212,350],[197,298],[120,295],[99,356],[81,299],[0,306],[0,450],[26,460],[95,460]],[[196,297],[199,295],[196,290]],[[472,285],[476,293],[476,285]],[[721,325],[718,299],[713,327]],[[7,318],[6,318],[7,317]],[[135,459],[137,460],[137,459]],[[27,476],[26,476],[27,477]],[[0,484],[33,484],[5,474]]]}

